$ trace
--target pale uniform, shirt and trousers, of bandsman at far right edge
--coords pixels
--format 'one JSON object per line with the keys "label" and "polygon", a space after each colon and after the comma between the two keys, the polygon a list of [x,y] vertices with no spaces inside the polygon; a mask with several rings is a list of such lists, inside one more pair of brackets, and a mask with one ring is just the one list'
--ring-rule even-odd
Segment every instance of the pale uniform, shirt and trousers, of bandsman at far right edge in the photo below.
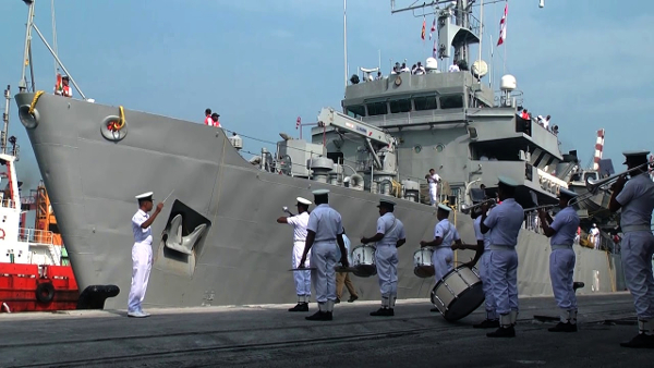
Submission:
{"label": "pale uniform, shirt and trousers, of bandsman at far right edge", "polygon": [[[633,296],[635,314],[641,321],[654,322],[654,278],[652,255],[654,235],[650,230],[654,209],[654,183],[647,174],[630,179],[616,197],[622,206],[622,269],[627,286]],[[650,328],[649,333],[652,333]]]}

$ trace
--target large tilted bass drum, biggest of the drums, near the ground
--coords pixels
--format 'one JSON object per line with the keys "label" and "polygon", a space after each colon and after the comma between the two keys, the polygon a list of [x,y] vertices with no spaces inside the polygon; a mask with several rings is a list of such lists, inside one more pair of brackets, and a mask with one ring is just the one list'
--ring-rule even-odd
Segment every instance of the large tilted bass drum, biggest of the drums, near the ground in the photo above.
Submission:
{"label": "large tilted bass drum, biggest of the drums, near the ground", "polygon": [[468,266],[447,272],[434,290],[432,304],[448,321],[457,321],[484,303],[484,290],[479,273]]}

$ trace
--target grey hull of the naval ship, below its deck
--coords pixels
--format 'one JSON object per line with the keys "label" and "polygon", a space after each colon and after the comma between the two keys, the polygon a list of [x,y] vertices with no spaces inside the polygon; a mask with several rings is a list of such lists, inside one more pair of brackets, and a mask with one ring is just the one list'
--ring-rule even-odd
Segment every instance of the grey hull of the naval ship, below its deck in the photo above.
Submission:
{"label": "grey hull of the naval ship, below its deck", "polygon": [[[361,235],[374,233],[380,195],[263,172],[238,154],[222,130],[125,110],[126,136],[111,142],[100,127],[106,118],[119,114],[117,107],[43,95],[33,127],[35,121],[26,113],[33,98],[34,94],[15,97],[80,290],[98,284],[121,290],[107,299],[106,308],[126,305],[130,220],[137,209],[134,195],[143,192],[153,191],[155,200],[162,200],[174,191],[153,224],[155,259],[146,306],[293,302],[288,271],[292,230],[275,219],[282,206],[292,206],[296,196],[311,198],[316,188],[331,191],[330,205],[342,214],[353,247]],[[413,274],[413,253],[421,240],[433,236],[434,208],[397,201],[396,214],[407,231],[399,253],[399,297],[428,297],[434,280]],[[195,224],[207,224],[192,255],[165,246],[161,235],[173,212],[192,213]],[[470,217],[458,213],[457,228],[464,242],[474,242]],[[522,231],[518,249],[520,294],[552,295],[547,238]],[[591,249],[577,252],[576,280],[586,284],[580,293],[623,289],[619,260]],[[463,261],[472,255],[457,254]],[[363,298],[379,297],[376,277],[353,281]]]}

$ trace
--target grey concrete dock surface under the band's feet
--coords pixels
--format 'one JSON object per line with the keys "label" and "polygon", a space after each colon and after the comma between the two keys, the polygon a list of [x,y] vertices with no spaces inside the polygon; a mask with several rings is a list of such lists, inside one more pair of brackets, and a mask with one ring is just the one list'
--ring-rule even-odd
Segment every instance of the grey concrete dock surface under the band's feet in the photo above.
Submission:
{"label": "grey concrete dock surface under the band's feet", "polygon": [[517,339],[473,329],[483,308],[450,323],[426,299],[336,305],[332,321],[289,305],[0,315],[1,367],[651,367],[654,349],[619,342],[637,333],[628,293],[579,297],[579,332],[552,333],[552,297],[521,298]]}

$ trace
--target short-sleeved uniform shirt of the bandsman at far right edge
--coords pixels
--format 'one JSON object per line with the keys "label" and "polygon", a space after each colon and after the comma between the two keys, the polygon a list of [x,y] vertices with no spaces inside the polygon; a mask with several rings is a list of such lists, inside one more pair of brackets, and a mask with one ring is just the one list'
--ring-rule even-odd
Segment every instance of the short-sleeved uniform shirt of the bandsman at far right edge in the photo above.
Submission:
{"label": "short-sleeved uniform shirt of the bandsman at far right edge", "polygon": [[646,225],[652,223],[652,210],[654,209],[654,182],[647,174],[639,174],[630,179],[625,188],[616,197],[622,206],[620,224]]}

